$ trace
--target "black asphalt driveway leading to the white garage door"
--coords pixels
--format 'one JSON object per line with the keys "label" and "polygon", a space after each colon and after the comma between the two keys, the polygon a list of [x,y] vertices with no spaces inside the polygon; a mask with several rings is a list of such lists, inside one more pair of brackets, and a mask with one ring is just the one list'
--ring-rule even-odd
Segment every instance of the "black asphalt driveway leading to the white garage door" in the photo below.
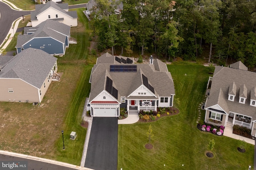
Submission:
{"label": "black asphalt driveway leading to the white garage door", "polygon": [[94,117],[84,167],[117,169],[117,117]]}

